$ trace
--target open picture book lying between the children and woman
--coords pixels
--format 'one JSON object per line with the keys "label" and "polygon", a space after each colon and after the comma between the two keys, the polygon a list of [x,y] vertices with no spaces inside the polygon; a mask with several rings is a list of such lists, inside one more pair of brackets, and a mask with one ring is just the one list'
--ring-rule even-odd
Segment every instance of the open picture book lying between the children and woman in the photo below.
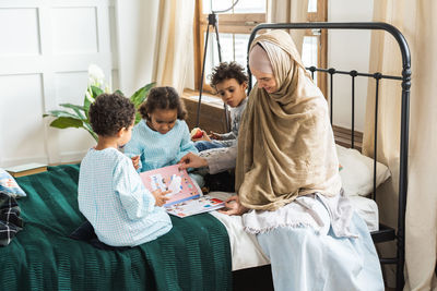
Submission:
{"label": "open picture book lying between the children and woman", "polygon": [[167,213],[178,217],[187,217],[224,207],[224,202],[203,195],[198,183],[178,165],[168,166],[140,173],[143,184],[149,191],[170,191],[169,199],[164,205]]}

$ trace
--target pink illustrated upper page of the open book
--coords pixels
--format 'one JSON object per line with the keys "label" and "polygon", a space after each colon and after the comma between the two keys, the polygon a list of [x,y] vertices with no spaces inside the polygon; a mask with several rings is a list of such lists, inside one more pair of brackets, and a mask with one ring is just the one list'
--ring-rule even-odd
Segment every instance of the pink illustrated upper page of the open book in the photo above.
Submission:
{"label": "pink illustrated upper page of the open book", "polygon": [[157,189],[163,192],[170,191],[166,194],[169,201],[164,207],[200,197],[202,194],[196,181],[188,175],[187,170],[180,170],[178,165],[141,172],[140,177],[150,192]]}

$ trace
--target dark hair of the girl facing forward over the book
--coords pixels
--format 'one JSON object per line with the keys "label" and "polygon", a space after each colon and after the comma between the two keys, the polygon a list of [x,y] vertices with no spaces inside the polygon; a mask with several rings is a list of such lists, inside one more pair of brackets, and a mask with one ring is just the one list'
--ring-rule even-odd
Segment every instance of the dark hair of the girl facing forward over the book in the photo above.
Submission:
{"label": "dark hair of the girl facing forward over the book", "polygon": [[173,87],[152,88],[145,102],[140,106],[139,111],[143,119],[151,121],[149,114],[153,113],[156,109],[177,109],[177,119],[185,120],[187,118],[184,101]]}

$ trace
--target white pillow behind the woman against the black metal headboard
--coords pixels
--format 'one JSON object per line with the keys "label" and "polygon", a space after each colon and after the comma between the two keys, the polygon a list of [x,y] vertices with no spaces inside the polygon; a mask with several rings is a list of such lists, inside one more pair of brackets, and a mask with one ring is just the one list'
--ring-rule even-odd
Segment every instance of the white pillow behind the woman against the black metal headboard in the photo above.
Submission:
{"label": "white pillow behind the woman against the black metal headboard", "polygon": [[[353,148],[336,145],[343,190],[346,196],[367,196],[374,191],[374,159],[362,155]],[[376,186],[378,187],[391,175],[386,165],[376,165]]]}

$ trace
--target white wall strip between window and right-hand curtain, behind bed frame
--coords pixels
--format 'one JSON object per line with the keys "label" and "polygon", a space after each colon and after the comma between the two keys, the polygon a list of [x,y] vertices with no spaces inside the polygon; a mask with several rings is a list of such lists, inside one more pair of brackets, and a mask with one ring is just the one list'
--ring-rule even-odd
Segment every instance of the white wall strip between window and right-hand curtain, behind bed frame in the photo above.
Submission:
{"label": "white wall strip between window and right-hand curtain, behind bed frame", "polygon": [[[373,0],[328,0],[329,22],[371,22]],[[329,31],[328,68],[367,73],[369,68],[369,31]],[[374,72],[371,72],[374,73]],[[355,78],[355,130],[363,132],[367,97],[367,78]],[[334,75],[333,124],[351,128],[351,76]],[[328,78],[329,84],[329,78]]]}

